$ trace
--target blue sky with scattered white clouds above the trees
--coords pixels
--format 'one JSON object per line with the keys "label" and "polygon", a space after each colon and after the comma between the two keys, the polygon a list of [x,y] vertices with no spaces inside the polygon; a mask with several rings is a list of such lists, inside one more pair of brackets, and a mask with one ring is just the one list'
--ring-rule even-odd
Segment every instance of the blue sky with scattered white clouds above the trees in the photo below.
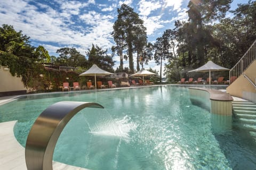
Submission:
{"label": "blue sky with scattered white clouds above the trees", "polygon": [[[35,47],[43,45],[50,55],[56,50],[75,47],[79,52],[91,48],[92,43],[109,49],[114,45],[111,32],[116,21],[117,8],[125,3],[137,12],[147,28],[148,41],[154,43],[163,31],[174,27],[175,20],[187,20],[189,0],[0,0],[0,24],[13,25],[16,31],[30,37]],[[234,0],[231,9],[245,0]],[[115,57],[115,68],[119,66]],[[135,61],[135,59],[134,59]],[[125,66],[128,66],[125,62]],[[136,67],[134,62],[134,67]],[[151,61],[149,65],[159,70]]]}

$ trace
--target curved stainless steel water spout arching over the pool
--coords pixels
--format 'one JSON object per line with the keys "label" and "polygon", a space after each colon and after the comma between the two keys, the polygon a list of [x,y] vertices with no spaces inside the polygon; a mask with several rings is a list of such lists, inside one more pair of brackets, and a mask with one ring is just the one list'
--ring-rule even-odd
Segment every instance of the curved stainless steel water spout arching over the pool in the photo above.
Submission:
{"label": "curved stainless steel water spout arching over the pool", "polygon": [[60,101],[38,116],[28,134],[25,158],[28,170],[52,170],[52,157],[60,133],[69,120],[85,107],[104,108],[97,103]]}

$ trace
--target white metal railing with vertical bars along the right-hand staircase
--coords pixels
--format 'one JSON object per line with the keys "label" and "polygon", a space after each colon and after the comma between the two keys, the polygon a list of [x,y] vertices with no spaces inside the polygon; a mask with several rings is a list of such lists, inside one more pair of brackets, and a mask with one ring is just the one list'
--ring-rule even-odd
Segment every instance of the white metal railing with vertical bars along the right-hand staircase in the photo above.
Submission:
{"label": "white metal railing with vertical bars along the right-hand staircase", "polygon": [[[256,60],[256,40],[251,47],[246,51],[243,57],[236,63],[236,65],[229,71],[229,80],[231,77],[239,77],[249,65]],[[231,81],[229,81],[229,84]]]}

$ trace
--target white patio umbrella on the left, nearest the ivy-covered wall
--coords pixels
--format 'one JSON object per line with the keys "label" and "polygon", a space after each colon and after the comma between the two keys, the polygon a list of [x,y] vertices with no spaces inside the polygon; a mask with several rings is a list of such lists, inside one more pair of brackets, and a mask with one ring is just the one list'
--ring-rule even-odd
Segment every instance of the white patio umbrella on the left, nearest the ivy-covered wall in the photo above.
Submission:
{"label": "white patio umbrella on the left, nearest the ivy-covered wall", "polygon": [[113,74],[113,73],[110,73],[110,72],[107,72],[105,70],[102,70],[96,64],[93,64],[92,67],[89,70],[79,74],[79,76],[94,76],[94,79],[95,79],[95,89],[97,89],[96,76],[97,75],[104,76],[104,75],[109,75],[109,74]]}

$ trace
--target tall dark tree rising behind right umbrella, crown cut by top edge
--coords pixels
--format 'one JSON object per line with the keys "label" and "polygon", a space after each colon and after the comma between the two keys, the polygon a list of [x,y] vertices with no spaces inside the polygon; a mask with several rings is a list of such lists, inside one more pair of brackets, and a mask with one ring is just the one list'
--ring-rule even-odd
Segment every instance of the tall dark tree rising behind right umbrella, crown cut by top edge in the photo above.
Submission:
{"label": "tall dark tree rising behind right umbrella, crown cut by top edge", "polygon": [[191,24],[191,36],[196,44],[196,54],[198,65],[205,64],[205,45],[210,44],[212,36],[204,29],[204,24],[212,20],[223,18],[230,8],[232,0],[198,0],[189,1],[188,16]]}

